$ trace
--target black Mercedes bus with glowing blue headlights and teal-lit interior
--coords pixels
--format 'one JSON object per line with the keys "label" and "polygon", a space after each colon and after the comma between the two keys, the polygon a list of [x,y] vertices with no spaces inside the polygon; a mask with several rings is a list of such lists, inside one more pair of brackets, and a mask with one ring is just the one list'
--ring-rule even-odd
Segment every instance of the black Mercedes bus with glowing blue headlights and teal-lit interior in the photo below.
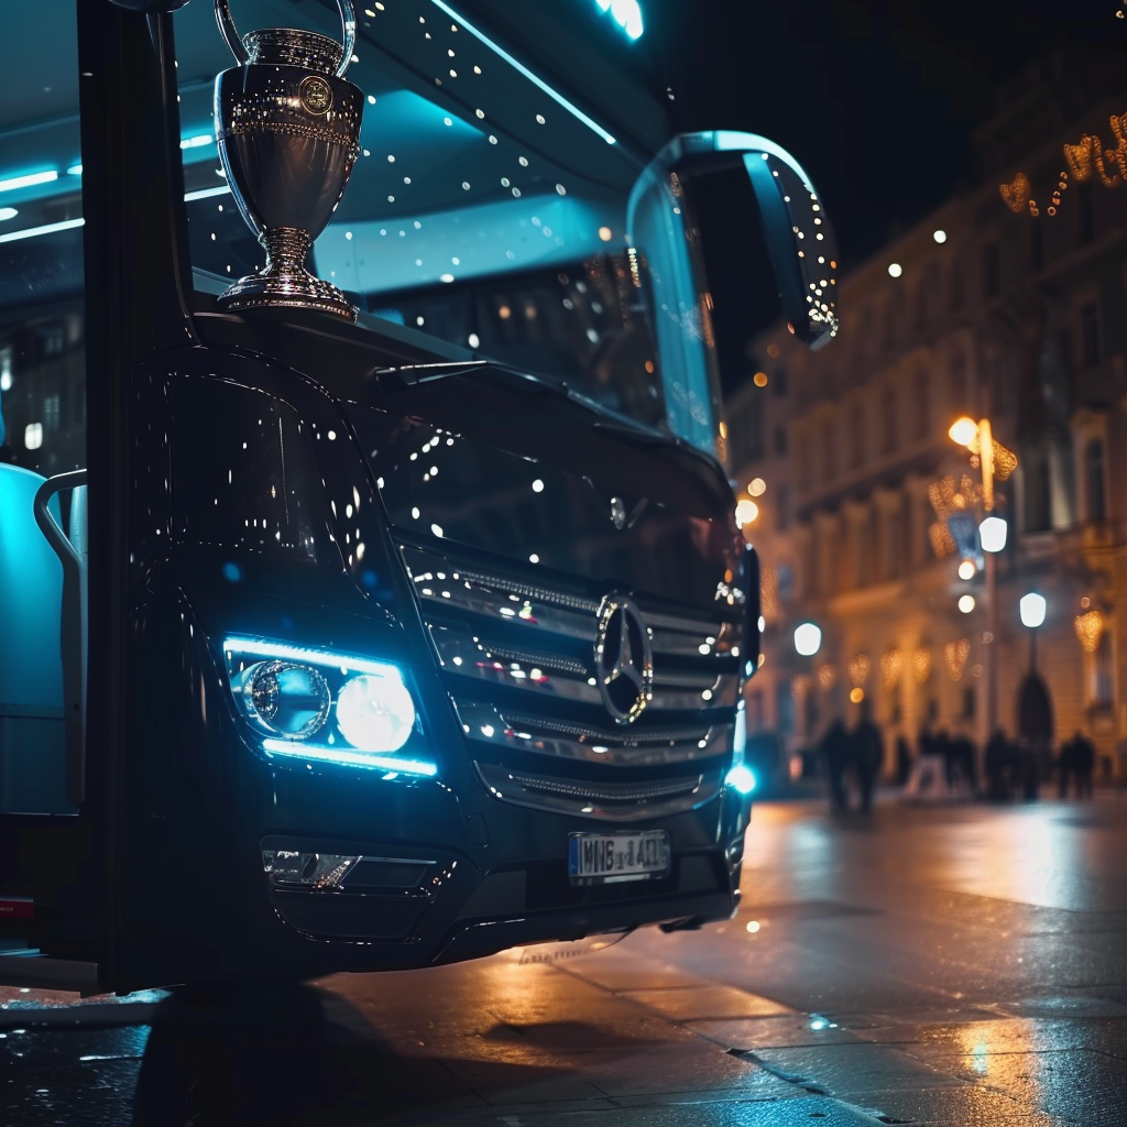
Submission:
{"label": "black Mercedes bus with glowing blue headlights and teal-lit interior", "polygon": [[[833,234],[781,149],[669,136],[596,74],[580,7],[356,10],[360,154],[309,263],[353,323],[224,305],[264,251],[208,0],[8,6],[0,980],[421,967],[734,911],[758,584],[694,185],[745,170],[815,347]],[[232,6],[338,41],[347,9]]]}

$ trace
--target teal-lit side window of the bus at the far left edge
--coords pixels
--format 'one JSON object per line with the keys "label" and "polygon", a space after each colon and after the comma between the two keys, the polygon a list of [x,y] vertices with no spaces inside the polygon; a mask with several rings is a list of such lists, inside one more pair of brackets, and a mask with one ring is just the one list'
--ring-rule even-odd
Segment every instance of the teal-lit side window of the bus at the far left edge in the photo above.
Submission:
{"label": "teal-lit side window of the bus at the far left edge", "polygon": [[[74,6],[5,12],[0,37],[0,813],[61,814],[62,569],[45,477],[86,465],[82,161]],[[74,506],[76,518],[81,506]],[[52,514],[69,523],[70,494]]]}

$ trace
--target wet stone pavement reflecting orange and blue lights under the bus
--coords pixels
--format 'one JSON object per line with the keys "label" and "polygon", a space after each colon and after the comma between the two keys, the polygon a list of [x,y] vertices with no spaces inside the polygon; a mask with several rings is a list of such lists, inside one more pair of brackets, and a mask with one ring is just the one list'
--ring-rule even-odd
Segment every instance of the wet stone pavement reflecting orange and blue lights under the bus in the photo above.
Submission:
{"label": "wet stone pavement reflecting orange and blue lights under the bus", "polygon": [[0,991],[0,1124],[1127,1125],[1127,797],[755,809],[738,916],[117,1002]]}

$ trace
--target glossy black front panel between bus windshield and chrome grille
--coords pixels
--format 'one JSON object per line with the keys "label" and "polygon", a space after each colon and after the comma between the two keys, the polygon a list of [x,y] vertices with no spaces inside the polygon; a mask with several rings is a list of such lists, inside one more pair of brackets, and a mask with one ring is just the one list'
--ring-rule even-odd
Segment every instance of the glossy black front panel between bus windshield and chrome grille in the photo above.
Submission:
{"label": "glossy black front panel between bus windshield and chrome grille", "polygon": [[727,591],[743,538],[713,461],[545,381],[447,373],[345,405],[394,527],[606,591],[701,607]]}

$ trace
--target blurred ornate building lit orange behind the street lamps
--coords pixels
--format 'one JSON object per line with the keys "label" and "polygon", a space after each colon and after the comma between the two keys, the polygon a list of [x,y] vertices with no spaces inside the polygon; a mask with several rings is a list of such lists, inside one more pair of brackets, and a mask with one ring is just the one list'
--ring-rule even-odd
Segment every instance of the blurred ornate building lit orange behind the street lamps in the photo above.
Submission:
{"label": "blurred ornate building lit orange behind the street lamps", "polygon": [[[1019,600],[1036,591],[1055,744],[1079,729],[1115,762],[1127,739],[1121,69],[1042,63],[1002,91],[975,141],[978,186],[842,278],[837,340],[811,354],[779,325],[748,344],[755,375],[728,418],[764,564],[749,727],[809,746],[863,699],[889,766],[896,736],[914,746],[929,725],[979,747],[992,722],[1017,736],[1033,656]],[[965,415],[988,418],[1019,459],[999,486],[1009,538],[993,584],[974,545],[960,578],[964,553],[933,527],[930,487],[949,477],[950,499],[980,485],[948,435]],[[793,645],[805,620],[823,631],[813,658]]]}

